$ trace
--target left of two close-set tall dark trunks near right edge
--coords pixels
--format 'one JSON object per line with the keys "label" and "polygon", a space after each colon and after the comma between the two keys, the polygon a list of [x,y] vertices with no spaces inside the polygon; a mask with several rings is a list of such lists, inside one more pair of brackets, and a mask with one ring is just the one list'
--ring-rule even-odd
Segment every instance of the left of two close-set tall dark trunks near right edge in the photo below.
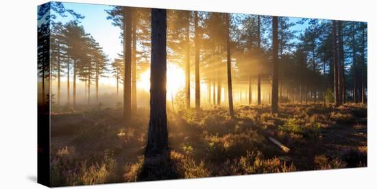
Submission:
{"label": "left of two close-set tall dark trunks near right edge", "polygon": [[337,51],[337,21],[332,21],[332,58],[334,63],[334,101],[335,105],[339,106],[339,62]]}

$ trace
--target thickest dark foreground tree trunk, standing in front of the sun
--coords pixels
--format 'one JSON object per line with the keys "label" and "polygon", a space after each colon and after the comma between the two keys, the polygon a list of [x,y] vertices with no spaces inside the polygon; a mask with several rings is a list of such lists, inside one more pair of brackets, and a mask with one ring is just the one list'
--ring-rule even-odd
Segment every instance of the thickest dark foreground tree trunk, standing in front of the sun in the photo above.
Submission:
{"label": "thickest dark foreground tree trunk, standing in front of the sun", "polygon": [[145,157],[168,150],[167,132],[167,12],[151,9],[150,114]]}

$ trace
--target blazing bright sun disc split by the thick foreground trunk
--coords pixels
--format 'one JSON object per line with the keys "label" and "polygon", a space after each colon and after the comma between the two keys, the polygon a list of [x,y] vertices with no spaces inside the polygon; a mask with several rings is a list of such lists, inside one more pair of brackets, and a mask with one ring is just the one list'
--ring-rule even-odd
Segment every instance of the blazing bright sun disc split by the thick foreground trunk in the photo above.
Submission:
{"label": "blazing bright sun disc split by the thick foreground trunk", "polygon": [[[147,69],[140,75],[136,86],[142,90],[149,91],[150,88],[150,69]],[[184,89],[184,70],[173,63],[167,64],[167,98],[175,96],[177,92]]]}

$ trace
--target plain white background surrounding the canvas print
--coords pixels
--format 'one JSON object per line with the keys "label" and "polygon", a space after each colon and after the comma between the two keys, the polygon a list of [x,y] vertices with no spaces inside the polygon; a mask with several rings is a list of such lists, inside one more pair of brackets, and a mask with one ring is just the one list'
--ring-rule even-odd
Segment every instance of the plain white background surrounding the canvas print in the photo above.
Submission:
{"label": "plain white background surrounding the canvas print", "polygon": [[[36,8],[47,1],[3,0],[0,6],[0,188],[36,184]],[[93,188],[376,188],[376,18],[372,0],[94,0],[72,1],[368,22],[368,167],[337,171],[149,181]],[[83,188],[83,187],[76,187]]]}

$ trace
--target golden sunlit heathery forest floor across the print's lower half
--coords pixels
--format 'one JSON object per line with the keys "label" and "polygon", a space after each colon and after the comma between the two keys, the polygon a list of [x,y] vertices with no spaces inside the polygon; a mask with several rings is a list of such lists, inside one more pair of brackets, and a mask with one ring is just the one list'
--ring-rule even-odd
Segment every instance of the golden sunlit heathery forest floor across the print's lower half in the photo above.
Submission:
{"label": "golden sunlit heathery forest floor across the print's lower half", "polygon": [[[116,108],[56,108],[51,115],[51,184],[281,173],[367,166],[367,105],[240,105],[168,111],[170,160],[143,173],[149,110],[125,125]],[[287,153],[269,140],[289,147]]]}

